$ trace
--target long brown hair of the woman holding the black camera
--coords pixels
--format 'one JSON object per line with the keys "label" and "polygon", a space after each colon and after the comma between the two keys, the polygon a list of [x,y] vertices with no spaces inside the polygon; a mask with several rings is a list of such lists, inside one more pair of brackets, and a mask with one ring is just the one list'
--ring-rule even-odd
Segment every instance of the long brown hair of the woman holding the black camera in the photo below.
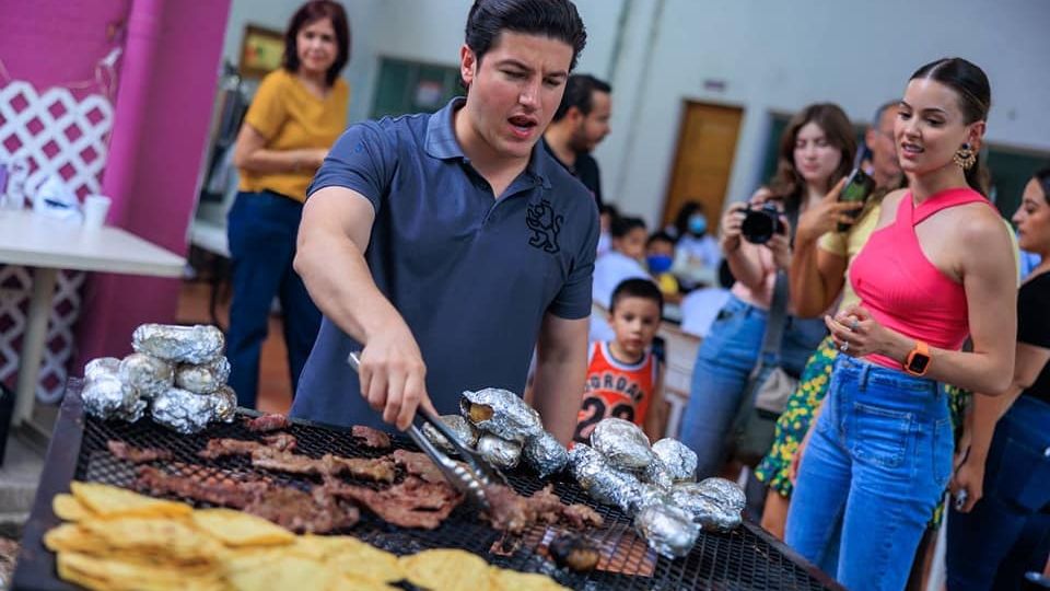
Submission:
{"label": "long brown hair of the woman holding the black camera", "polygon": [[853,166],[856,137],[853,125],[850,124],[850,118],[845,116],[842,107],[832,103],[816,103],[803,108],[788,121],[788,127],[780,137],[777,174],[769,183],[773,195],[784,200],[785,210],[798,209],[802,204],[806,181],[795,167],[795,141],[798,139],[798,131],[810,123],[817,124],[828,143],[838,148],[842,154],[839,166],[828,179],[828,188],[850,174],[850,169]]}

